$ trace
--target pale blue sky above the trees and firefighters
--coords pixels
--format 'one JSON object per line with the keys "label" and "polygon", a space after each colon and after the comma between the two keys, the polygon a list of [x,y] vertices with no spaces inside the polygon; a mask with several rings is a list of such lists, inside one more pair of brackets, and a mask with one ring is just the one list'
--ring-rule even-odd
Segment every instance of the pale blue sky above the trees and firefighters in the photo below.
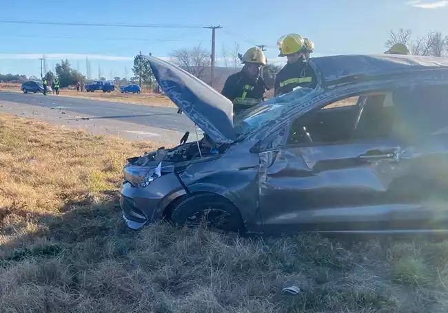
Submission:
{"label": "pale blue sky above the trees and firefighters", "polygon": [[[1,3],[0,20],[65,23],[222,25],[216,30],[216,56],[223,45],[241,53],[268,45],[268,61],[279,62],[276,40],[296,32],[314,41],[314,56],[385,51],[389,30],[405,28],[414,36],[431,30],[448,34],[448,1],[437,0],[21,0]],[[118,28],[27,25],[0,21],[0,73],[39,76],[39,57],[48,69],[67,57],[85,74],[90,56],[92,77],[98,67],[106,78],[132,76],[140,51],[166,57],[170,51],[201,44],[210,49],[211,30],[201,28]],[[219,63],[218,63],[219,64]]]}

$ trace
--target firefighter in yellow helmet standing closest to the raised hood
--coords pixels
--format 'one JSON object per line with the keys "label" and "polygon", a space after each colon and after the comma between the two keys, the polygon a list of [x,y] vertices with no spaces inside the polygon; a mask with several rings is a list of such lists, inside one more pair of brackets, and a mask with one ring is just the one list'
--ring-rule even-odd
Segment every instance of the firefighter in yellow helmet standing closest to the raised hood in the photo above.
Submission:
{"label": "firefighter in yellow helmet standing closest to the raised hood", "polygon": [[265,100],[267,85],[261,78],[266,57],[259,47],[252,47],[241,58],[241,72],[230,75],[221,94],[234,104],[234,115]]}

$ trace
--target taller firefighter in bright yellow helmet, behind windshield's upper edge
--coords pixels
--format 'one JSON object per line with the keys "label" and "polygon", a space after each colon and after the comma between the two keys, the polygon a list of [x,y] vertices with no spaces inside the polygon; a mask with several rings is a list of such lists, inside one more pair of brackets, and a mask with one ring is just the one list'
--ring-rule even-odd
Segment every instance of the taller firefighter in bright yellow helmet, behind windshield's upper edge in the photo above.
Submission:
{"label": "taller firefighter in bright yellow helmet, behind windshield's upper edge", "polygon": [[286,56],[287,64],[276,76],[275,96],[287,94],[296,87],[316,87],[317,78],[314,69],[303,58],[304,43],[299,34],[288,34],[278,39],[277,44],[280,50],[278,56]]}

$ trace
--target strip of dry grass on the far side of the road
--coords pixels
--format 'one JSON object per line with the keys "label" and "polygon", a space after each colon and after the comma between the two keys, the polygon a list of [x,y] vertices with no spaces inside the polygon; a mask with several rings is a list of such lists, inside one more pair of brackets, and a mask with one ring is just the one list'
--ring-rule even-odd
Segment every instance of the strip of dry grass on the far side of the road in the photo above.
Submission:
{"label": "strip of dry grass on the far side of the road", "polygon": [[[0,83],[0,90],[22,92],[19,83]],[[119,87],[116,87],[119,89]],[[72,89],[61,89],[60,95],[70,98],[83,98],[99,101],[121,102],[134,105],[149,105],[150,107],[176,107],[174,103],[165,95],[160,94],[121,94],[119,91],[103,93],[95,92],[77,92]]]}

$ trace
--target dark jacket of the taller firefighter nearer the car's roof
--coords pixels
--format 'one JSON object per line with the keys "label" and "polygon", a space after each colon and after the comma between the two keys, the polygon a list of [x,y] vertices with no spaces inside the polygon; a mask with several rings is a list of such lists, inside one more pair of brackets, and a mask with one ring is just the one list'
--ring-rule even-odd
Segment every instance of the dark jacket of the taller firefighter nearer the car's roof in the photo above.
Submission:
{"label": "dark jacket of the taller firefighter nearer the car's roof", "polygon": [[278,72],[275,78],[274,95],[287,94],[298,86],[314,88],[316,85],[317,78],[314,69],[301,58],[294,63],[287,63]]}

